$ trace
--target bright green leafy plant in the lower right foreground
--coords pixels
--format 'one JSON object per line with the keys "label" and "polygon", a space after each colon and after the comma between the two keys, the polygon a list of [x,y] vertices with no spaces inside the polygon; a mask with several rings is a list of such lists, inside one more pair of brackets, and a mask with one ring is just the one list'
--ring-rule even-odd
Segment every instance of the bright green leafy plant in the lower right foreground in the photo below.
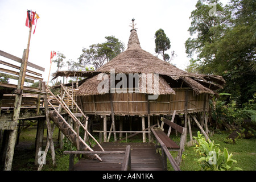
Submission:
{"label": "bright green leafy plant in the lower right foreground", "polygon": [[228,150],[224,148],[222,153],[218,144],[214,144],[214,141],[209,142],[205,140],[200,131],[197,132],[197,137],[193,137],[197,140],[198,145],[193,147],[201,158],[197,160],[200,169],[204,171],[237,171],[242,170],[239,167],[234,167],[233,164],[237,163],[232,159],[233,154],[229,154]]}

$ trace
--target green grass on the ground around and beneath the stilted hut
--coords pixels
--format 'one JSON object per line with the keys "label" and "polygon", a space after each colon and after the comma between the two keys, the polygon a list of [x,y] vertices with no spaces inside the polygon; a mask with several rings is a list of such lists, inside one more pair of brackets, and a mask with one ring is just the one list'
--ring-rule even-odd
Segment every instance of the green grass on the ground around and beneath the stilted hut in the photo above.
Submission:
{"label": "green grass on the ground around and beneath the stilted hut", "polygon": [[[196,136],[197,129],[193,130],[193,136]],[[57,143],[59,130],[55,128],[53,133],[53,140],[55,141],[55,154],[56,154],[56,167],[52,166],[51,152],[48,151],[46,165],[43,166],[43,171],[67,171],[69,165],[69,155],[64,155],[63,150],[60,150],[59,144]],[[242,168],[244,171],[255,171],[256,170],[256,138],[244,139],[238,138],[235,144],[225,143],[224,139],[228,137],[228,132],[219,132],[210,137],[214,140],[214,143],[220,144],[219,148],[223,152],[224,147],[228,149],[229,154],[233,154],[233,159],[237,160],[237,167]],[[20,134],[19,145],[16,147],[14,154],[13,170],[19,171],[35,171],[38,167],[35,166],[35,137],[36,137],[36,126],[28,127],[24,129]],[[44,146],[46,146],[47,130],[44,131]],[[187,141],[189,141],[189,135],[187,135]],[[95,136],[98,139],[98,134]],[[179,136],[171,134],[172,140],[179,142]],[[110,139],[110,142],[113,137]],[[122,142],[125,142],[122,141]],[[138,135],[134,138],[127,139],[127,142],[141,142],[141,137]],[[172,156],[175,158],[177,152],[171,151]],[[180,164],[182,171],[196,171],[199,170],[197,160],[200,158],[199,154],[196,154],[192,147],[185,147],[183,152],[183,160]],[[75,158],[75,163],[77,162]],[[168,170],[172,170],[170,162],[168,162]],[[2,167],[1,167],[2,169]]]}

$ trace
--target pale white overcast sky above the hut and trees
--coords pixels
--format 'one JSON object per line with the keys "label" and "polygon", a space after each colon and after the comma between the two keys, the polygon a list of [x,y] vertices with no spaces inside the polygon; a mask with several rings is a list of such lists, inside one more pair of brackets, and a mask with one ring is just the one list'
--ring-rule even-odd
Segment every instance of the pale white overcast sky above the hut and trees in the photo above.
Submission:
{"label": "pale white overcast sky above the hut and trees", "polygon": [[[196,2],[197,0],[0,0],[0,50],[22,57],[28,43],[29,28],[25,26],[27,10],[36,11],[40,18],[35,34],[31,35],[28,61],[45,68],[44,72],[38,72],[43,73],[44,81],[47,82],[51,51],[63,53],[66,61],[77,61],[82,48],[103,43],[106,41],[105,36],[112,35],[121,40],[126,49],[131,19],[135,18],[142,49],[156,55],[154,35],[162,28],[171,41],[171,48],[166,53],[171,55],[171,51],[175,51],[177,55],[171,63],[184,70],[189,65],[184,44],[190,37],[189,16],[195,10]],[[162,59],[160,55],[158,57]],[[9,61],[2,56],[0,60]],[[16,64],[15,61],[10,63]],[[4,66],[0,64],[0,67]],[[28,69],[35,71],[33,68]],[[56,63],[53,63],[51,74],[56,70]],[[61,71],[64,70],[67,67],[61,68]]]}

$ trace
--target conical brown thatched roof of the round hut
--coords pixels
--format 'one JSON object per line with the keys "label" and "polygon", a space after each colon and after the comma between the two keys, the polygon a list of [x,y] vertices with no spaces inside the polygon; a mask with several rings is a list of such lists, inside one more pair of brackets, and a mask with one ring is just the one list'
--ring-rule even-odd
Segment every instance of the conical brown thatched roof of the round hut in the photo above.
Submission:
{"label": "conical brown thatched roof of the round hut", "polygon": [[[139,43],[136,30],[131,30],[128,47],[126,51],[114,57],[109,63],[97,69],[97,73],[110,74],[110,70],[114,69],[115,74],[118,73],[158,73],[159,74],[159,90],[157,94],[175,94],[175,81],[180,81],[184,85],[192,88],[196,94],[210,93],[214,94],[214,90],[222,88],[225,80],[221,76],[215,75],[199,75],[187,73],[166,61],[158,59],[151,53],[144,51]],[[93,95],[98,93],[97,85],[101,80],[97,80],[97,75],[88,78],[80,87],[77,95]],[[174,82],[174,85],[172,83]],[[153,94],[150,92],[140,93]]]}

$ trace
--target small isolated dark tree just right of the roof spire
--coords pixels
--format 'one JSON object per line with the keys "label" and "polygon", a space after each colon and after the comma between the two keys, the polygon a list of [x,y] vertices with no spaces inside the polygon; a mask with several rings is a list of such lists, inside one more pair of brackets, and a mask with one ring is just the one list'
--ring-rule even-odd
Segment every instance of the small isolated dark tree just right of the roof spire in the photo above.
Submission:
{"label": "small isolated dark tree just right of the roof spire", "polygon": [[163,56],[164,61],[168,61],[170,56],[167,53],[164,53],[171,48],[170,39],[167,38],[164,31],[160,28],[155,32],[155,52]]}

